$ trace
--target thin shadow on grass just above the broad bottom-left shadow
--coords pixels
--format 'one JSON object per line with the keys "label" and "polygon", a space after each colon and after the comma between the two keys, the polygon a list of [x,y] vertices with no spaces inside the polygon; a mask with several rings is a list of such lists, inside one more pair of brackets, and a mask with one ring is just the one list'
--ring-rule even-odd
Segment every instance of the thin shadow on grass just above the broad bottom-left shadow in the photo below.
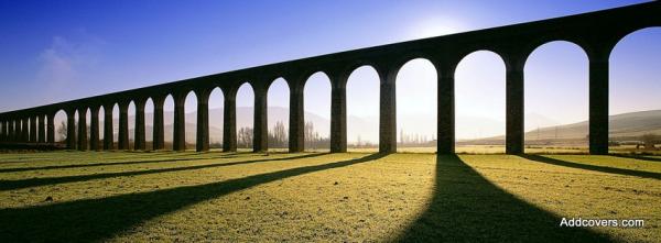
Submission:
{"label": "thin shadow on grass just above the broad bottom-left shadow", "polygon": [[306,154],[306,155],[281,157],[281,158],[251,159],[251,161],[221,163],[221,164],[183,166],[183,167],[160,168],[160,169],[144,169],[144,170],[122,172],[122,173],[99,173],[99,174],[80,175],[80,176],[45,177],[45,178],[30,178],[30,179],[19,179],[19,180],[0,180],[0,191],[23,189],[23,188],[46,186],[46,185],[57,185],[57,184],[65,184],[65,183],[78,183],[78,181],[121,177],[121,176],[139,176],[139,175],[149,175],[149,174],[158,174],[158,173],[171,173],[171,172],[182,172],[182,170],[192,170],[192,169],[214,168],[214,167],[224,167],[224,166],[231,166],[231,165],[252,164],[252,163],[259,163],[259,162],[291,161],[291,159],[316,157],[316,156],[322,156],[322,155],[325,155],[325,154],[322,154],[322,153]]}

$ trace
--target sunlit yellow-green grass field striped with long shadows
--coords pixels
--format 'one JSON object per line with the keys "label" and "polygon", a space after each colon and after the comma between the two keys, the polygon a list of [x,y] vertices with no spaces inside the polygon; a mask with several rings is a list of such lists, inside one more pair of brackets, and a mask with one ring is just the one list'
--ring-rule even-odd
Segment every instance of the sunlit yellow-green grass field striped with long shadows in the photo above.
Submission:
{"label": "sunlit yellow-green grass field striped with long shadows", "polygon": [[0,242],[654,242],[660,225],[659,156],[0,154]]}

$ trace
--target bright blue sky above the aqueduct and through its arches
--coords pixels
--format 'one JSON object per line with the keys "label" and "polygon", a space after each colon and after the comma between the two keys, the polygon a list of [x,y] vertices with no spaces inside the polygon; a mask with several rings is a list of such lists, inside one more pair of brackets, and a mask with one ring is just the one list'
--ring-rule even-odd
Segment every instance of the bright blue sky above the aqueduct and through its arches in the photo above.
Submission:
{"label": "bright blue sky above the aqueduct and through its arches", "polygon": [[[0,0],[0,111],[639,2],[644,1]],[[661,109],[660,42],[661,31],[647,30],[617,46],[611,113]],[[400,118],[400,126],[410,126],[400,129],[431,135],[435,107],[420,104],[435,99],[435,74],[425,62],[413,60],[400,74],[398,84],[420,85],[398,86],[398,112],[424,121]],[[587,118],[587,59],[579,48],[546,44],[533,53],[525,71],[528,129]],[[462,62],[456,78],[457,136],[503,133],[505,67],[499,57],[475,53]],[[317,74],[312,79],[305,109],[328,118],[327,78]],[[378,115],[375,79],[369,67],[351,76],[349,115]],[[275,87],[270,106],[286,107],[286,85]],[[238,104],[251,106],[251,96],[249,87],[242,89]],[[213,98],[210,107],[221,107],[221,99]],[[187,102],[187,111],[194,109]],[[349,141],[354,137],[349,134]]]}

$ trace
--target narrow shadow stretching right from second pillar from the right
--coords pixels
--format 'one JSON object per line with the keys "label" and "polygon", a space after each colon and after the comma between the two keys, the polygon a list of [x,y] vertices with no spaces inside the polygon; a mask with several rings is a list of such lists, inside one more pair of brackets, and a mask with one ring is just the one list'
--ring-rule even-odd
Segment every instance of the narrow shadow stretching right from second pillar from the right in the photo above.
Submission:
{"label": "narrow shadow stretching right from second pillar from the right", "polygon": [[546,163],[546,164],[551,164],[551,165],[559,165],[559,166],[565,166],[565,167],[572,167],[572,168],[579,168],[579,169],[587,169],[587,170],[593,170],[593,172],[618,174],[618,175],[626,175],[626,176],[637,176],[637,177],[642,177],[642,178],[661,179],[660,173],[641,172],[641,170],[626,169],[626,168],[614,168],[614,167],[606,167],[606,166],[598,166],[598,165],[578,164],[578,163],[551,158],[551,157],[544,157],[544,156],[540,156],[540,155],[527,154],[527,155],[520,155],[520,156],[523,158],[530,159],[530,161]]}

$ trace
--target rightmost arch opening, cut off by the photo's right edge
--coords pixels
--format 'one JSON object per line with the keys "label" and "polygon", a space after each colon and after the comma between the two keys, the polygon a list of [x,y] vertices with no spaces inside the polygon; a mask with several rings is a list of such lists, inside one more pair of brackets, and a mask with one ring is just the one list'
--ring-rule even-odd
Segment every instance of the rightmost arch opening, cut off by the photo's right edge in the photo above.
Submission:
{"label": "rightmost arch opening, cut off by the photo's right edge", "polygon": [[[661,27],[637,29],[620,37],[609,53],[609,131],[611,150],[647,150],[644,141],[660,137],[654,120],[661,114]],[[638,128],[630,128],[636,117]],[[629,126],[629,128],[628,128]],[[637,141],[637,142],[632,142]],[[638,144],[643,146],[637,146]]]}

